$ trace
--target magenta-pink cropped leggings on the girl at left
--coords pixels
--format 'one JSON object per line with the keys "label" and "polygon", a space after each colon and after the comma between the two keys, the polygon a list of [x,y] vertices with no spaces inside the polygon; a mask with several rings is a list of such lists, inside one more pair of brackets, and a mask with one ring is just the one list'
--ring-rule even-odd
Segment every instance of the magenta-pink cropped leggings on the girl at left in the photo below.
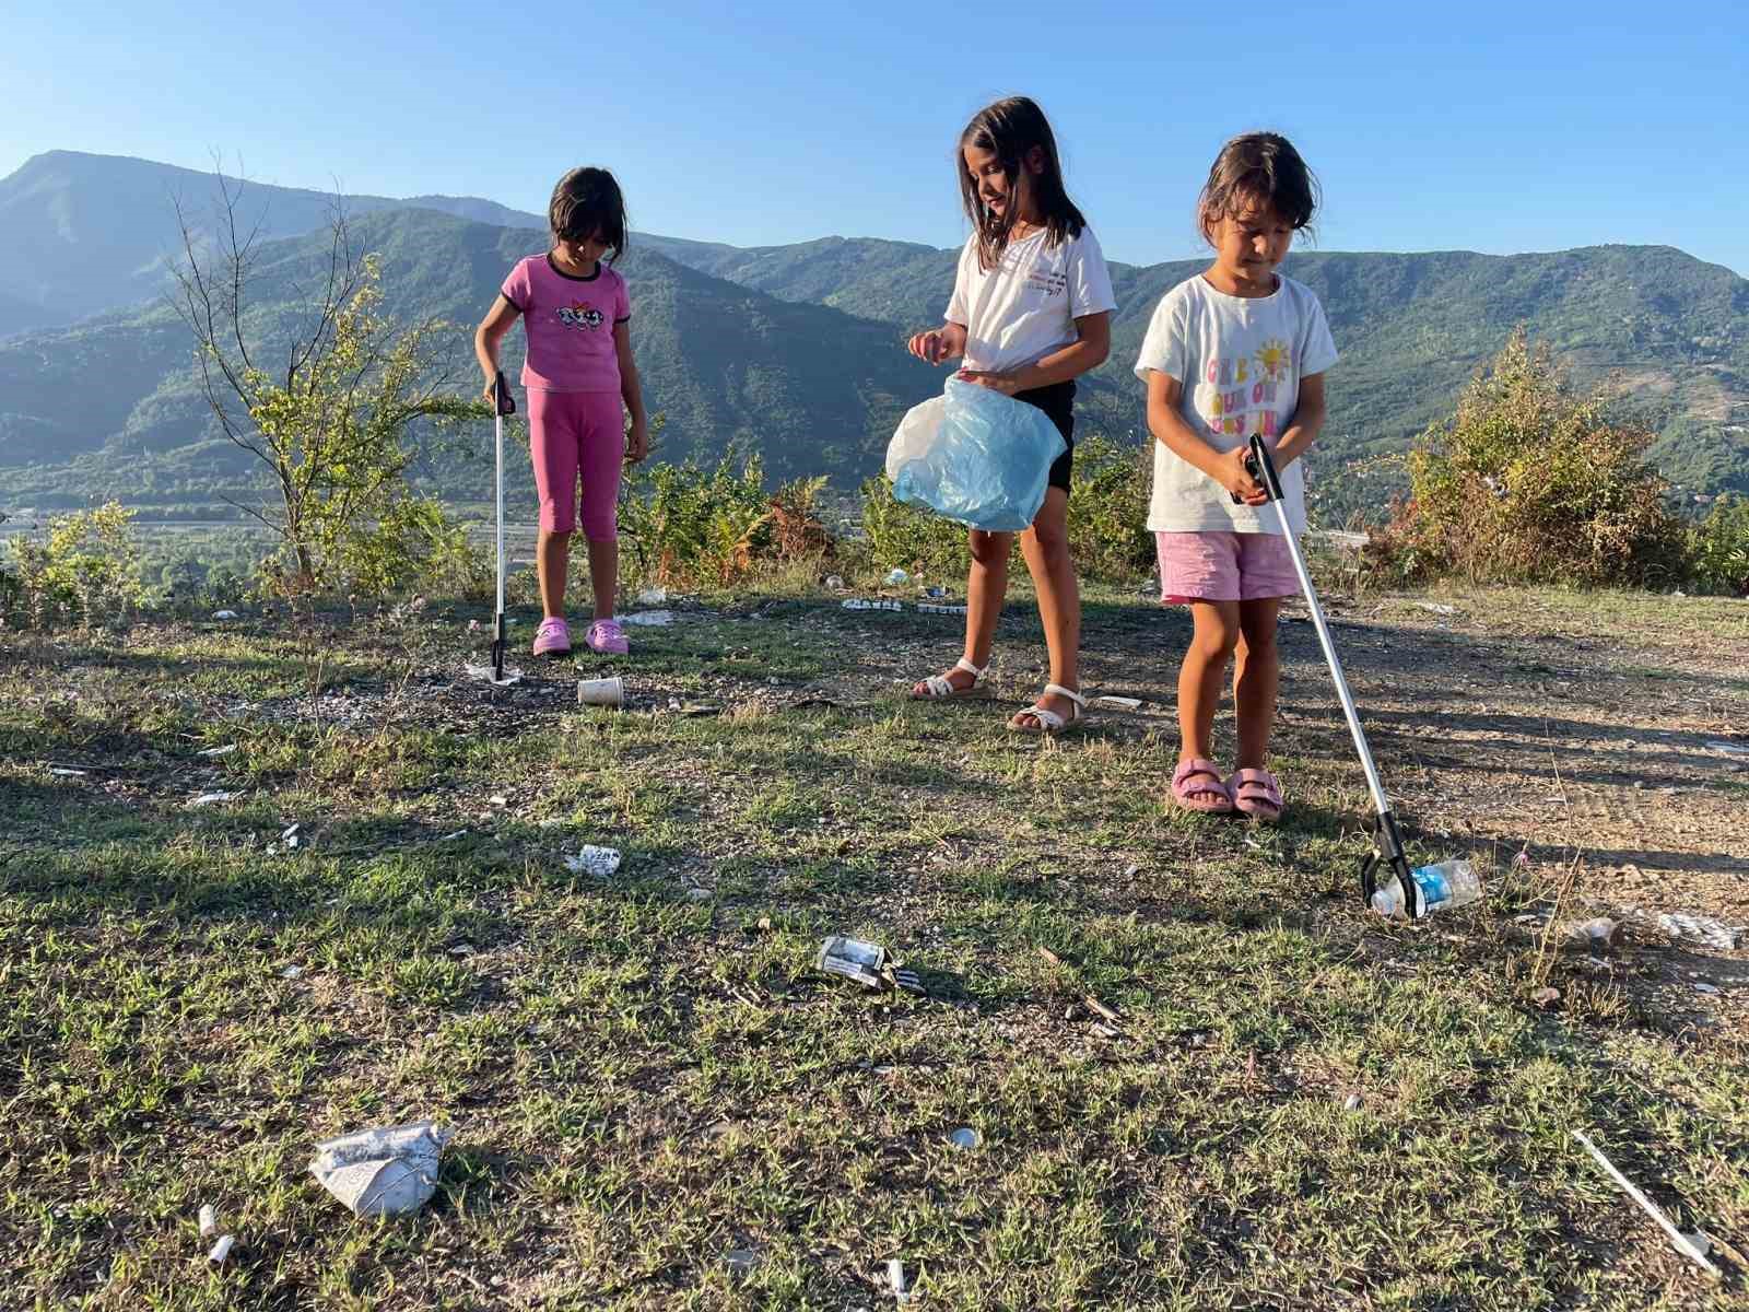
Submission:
{"label": "magenta-pink cropped leggings on the girl at left", "polygon": [[582,532],[591,542],[619,535],[619,469],[626,460],[626,413],[617,392],[546,392],[528,388],[528,451],[540,493],[540,527],[568,534],[577,527],[577,476],[582,476]]}

